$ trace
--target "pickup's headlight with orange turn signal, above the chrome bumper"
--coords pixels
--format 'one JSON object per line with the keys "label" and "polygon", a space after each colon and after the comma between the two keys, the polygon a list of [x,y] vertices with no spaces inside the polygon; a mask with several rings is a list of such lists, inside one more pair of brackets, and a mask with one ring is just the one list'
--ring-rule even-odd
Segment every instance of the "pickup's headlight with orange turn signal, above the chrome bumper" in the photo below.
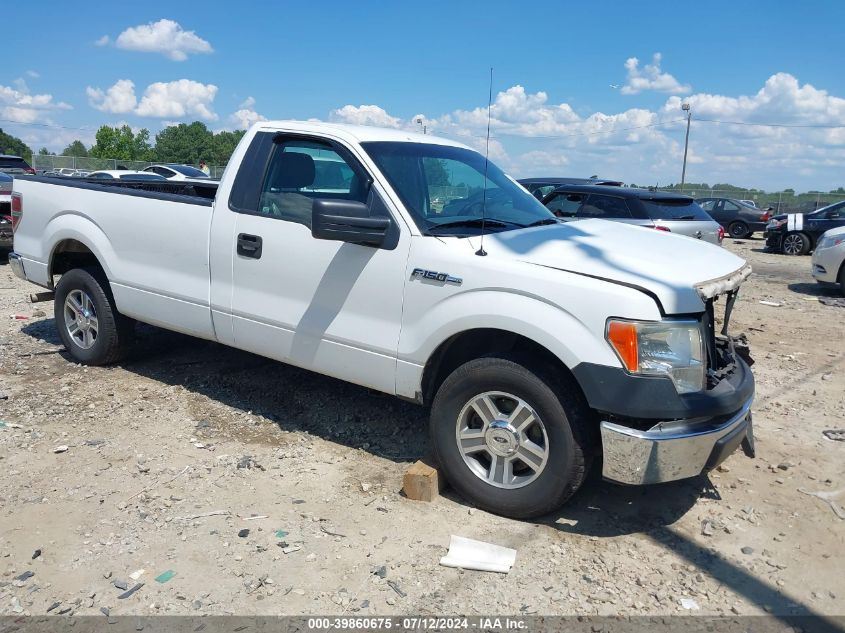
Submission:
{"label": "pickup's headlight with orange turn signal, above the chrome bumper", "polygon": [[630,373],[668,376],[678,393],[704,389],[704,341],[697,321],[609,319],[605,337]]}

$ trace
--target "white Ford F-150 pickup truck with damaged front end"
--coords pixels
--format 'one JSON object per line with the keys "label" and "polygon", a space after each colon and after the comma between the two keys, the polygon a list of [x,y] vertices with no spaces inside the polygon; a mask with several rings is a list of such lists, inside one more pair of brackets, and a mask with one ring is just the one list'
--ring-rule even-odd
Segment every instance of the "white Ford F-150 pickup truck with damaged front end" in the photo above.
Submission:
{"label": "white Ford F-150 pickup truck with damaged front end", "polygon": [[418,402],[451,484],[512,517],[598,456],[651,484],[753,455],[727,335],[750,268],[718,246],[562,224],[472,149],[396,130],[262,122],[213,200],[146,186],[15,180],[10,263],[81,363],[137,320]]}

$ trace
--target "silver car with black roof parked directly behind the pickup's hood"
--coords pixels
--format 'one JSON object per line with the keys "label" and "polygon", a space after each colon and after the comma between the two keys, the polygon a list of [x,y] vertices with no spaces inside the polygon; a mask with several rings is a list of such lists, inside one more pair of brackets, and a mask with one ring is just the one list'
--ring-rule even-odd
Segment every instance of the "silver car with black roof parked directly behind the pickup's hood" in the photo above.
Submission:
{"label": "silver car with black roof parked directly behind the pickup's hood", "polygon": [[721,244],[725,231],[688,196],[648,189],[566,185],[543,198],[564,221],[601,219]]}

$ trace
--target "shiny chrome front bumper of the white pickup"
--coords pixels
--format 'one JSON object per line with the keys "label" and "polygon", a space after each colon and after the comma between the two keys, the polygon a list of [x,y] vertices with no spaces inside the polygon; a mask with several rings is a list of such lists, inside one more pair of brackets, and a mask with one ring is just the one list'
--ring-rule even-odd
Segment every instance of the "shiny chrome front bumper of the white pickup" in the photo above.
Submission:
{"label": "shiny chrome front bumper of the white pickup", "polygon": [[648,431],[602,422],[602,476],[623,484],[656,484],[711,470],[740,444],[753,453],[752,401],[727,418],[660,422]]}

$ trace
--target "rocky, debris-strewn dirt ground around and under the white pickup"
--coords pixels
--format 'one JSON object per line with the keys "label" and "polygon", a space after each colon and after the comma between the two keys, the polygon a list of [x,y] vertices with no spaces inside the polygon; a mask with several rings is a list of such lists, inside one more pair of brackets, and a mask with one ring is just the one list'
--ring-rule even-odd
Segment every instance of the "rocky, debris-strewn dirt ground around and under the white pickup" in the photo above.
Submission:
{"label": "rocky, debris-strewn dirt ground around and under the white pickup", "polygon": [[[845,442],[823,435],[845,427],[845,309],[809,258],[726,247],[754,266],[732,331],[757,360],[757,459],[594,475],[538,522],[404,498],[427,430],[399,400],[151,327],[124,364],[75,365],[3,257],[0,615],[845,614],[845,520],[803,492],[845,506]],[[516,565],[441,567],[451,534]]]}

